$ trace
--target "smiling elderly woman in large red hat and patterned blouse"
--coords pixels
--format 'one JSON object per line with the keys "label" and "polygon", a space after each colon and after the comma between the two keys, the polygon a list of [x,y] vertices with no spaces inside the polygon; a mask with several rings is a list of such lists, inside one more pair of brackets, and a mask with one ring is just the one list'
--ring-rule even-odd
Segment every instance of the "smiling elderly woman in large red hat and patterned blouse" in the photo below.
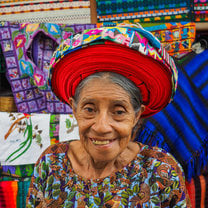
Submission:
{"label": "smiling elderly woman in large red hat and patterned blouse", "polygon": [[181,166],[134,141],[141,119],[172,99],[177,70],[151,33],[120,25],[65,40],[51,86],[80,140],[50,146],[36,163],[27,207],[190,207]]}

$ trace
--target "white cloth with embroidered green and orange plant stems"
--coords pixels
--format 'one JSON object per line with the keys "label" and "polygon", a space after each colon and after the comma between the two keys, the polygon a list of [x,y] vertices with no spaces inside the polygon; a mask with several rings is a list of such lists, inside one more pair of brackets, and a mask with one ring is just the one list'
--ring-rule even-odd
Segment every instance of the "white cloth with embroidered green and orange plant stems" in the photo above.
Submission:
{"label": "white cloth with embroidered green and orange plant stems", "polygon": [[0,118],[2,165],[34,164],[50,144],[79,139],[72,114],[0,112]]}

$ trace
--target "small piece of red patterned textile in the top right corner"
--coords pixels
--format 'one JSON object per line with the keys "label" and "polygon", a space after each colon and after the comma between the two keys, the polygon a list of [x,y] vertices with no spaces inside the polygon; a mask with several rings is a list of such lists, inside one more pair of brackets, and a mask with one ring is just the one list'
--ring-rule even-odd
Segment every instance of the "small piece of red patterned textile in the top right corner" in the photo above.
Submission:
{"label": "small piece of red patterned textile in the top right corner", "polygon": [[194,0],[195,22],[208,21],[208,0]]}

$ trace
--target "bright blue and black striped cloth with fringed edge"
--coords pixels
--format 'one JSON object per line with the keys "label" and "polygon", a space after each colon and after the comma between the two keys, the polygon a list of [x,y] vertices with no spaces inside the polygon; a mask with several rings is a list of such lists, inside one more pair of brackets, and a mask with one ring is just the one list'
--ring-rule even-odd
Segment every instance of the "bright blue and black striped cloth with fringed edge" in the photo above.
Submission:
{"label": "bright blue and black striped cloth with fringed edge", "polygon": [[193,52],[179,63],[178,89],[172,103],[146,119],[137,140],[172,153],[186,177],[207,172],[208,50]]}

